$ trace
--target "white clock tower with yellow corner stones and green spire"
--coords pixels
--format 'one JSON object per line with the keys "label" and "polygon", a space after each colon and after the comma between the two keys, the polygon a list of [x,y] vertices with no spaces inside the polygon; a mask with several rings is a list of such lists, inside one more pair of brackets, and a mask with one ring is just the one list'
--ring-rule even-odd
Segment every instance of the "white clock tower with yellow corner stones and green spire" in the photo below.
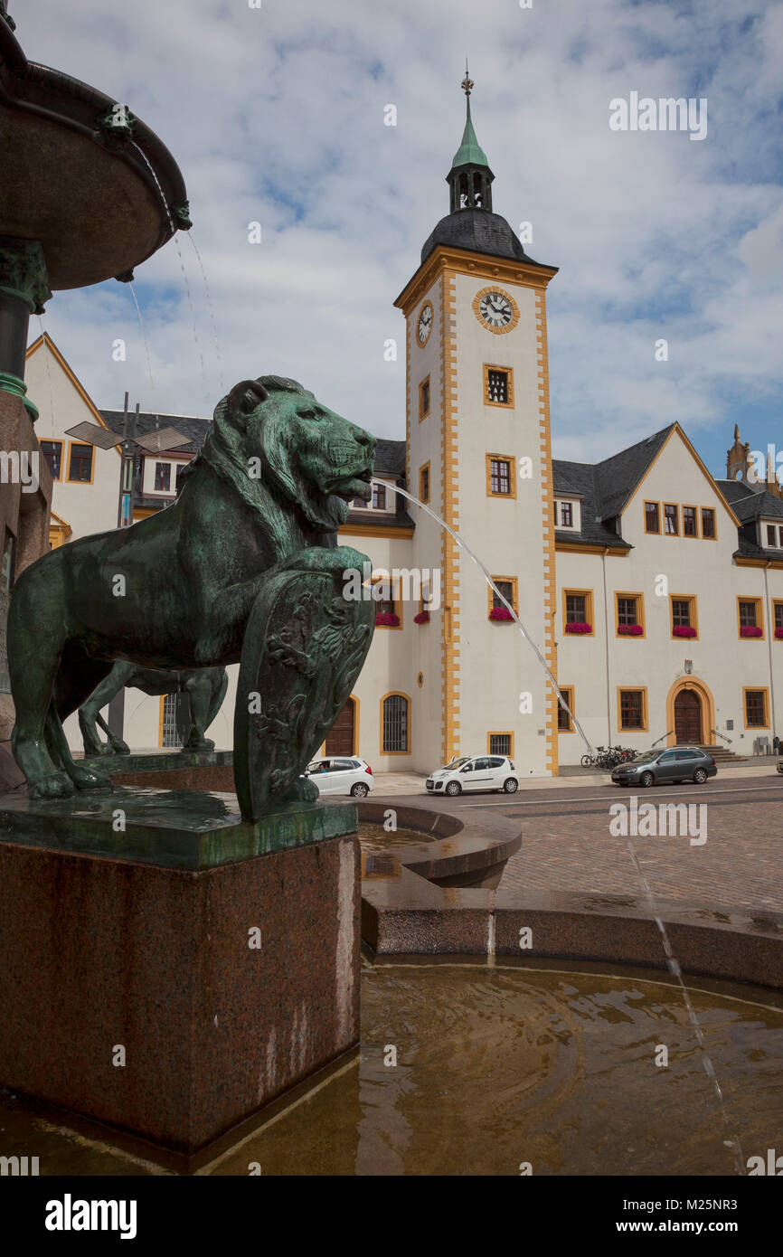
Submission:
{"label": "white clock tower with yellow corner stones and green spire", "polygon": [[[406,319],[411,491],[457,532],[513,603],[557,676],[547,285],[493,212],[493,171],[470,113],[446,176],[449,214],[395,304]],[[479,568],[417,507],[413,562],[439,568],[441,606],[415,639],[419,767],[509,754],[520,776],[557,772],[557,699]]]}

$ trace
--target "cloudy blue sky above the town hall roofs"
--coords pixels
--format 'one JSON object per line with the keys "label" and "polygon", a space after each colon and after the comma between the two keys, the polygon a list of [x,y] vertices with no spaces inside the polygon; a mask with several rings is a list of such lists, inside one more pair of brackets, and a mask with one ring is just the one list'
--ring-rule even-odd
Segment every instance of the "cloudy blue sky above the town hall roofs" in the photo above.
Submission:
{"label": "cloudy blue sky above the town hall roofs", "polygon": [[[173,244],[137,270],[151,371],[127,287],[49,303],[99,406],[127,388],[143,410],[205,415],[224,386],[278,372],[401,437],[405,354],[385,362],[383,342],[402,346],[392,302],[447,212],[468,54],[494,209],[530,221],[528,253],[561,268],[556,455],[593,460],[672,420],[716,474],[734,422],[783,450],[783,5],[254,3],[11,0],[28,57],[126,102],[190,194],[187,287]],[[611,131],[610,101],[631,92],[706,98],[706,138]]]}

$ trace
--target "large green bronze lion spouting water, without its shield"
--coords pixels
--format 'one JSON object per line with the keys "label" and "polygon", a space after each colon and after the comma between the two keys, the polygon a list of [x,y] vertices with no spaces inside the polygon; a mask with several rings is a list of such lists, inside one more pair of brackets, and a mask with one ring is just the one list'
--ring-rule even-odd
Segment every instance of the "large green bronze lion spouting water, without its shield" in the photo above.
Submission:
{"label": "large green bronze lion spouting water, without its shield", "polygon": [[111,788],[74,763],[62,722],[114,660],[168,670],[238,662],[273,571],[361,571],[364,556],[334,533],[351,499],[371,497],[373,454],[368,432],[295,380],[245,380],[217,403],[171,507],[33,563],[8,622],[11,745],[30,797]]}

